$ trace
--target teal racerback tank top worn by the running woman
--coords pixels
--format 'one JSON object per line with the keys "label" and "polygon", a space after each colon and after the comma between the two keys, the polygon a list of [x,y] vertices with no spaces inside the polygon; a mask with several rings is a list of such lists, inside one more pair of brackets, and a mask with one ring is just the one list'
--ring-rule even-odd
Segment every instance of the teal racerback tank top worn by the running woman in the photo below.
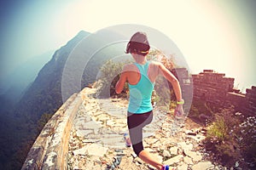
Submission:
{"label": "teal racerback tank top worn by the running woman", "polygon": [[130,91],[130,99],[128,105],[128,111],[131,113],[146,113],[153,110],[151,104],[151,95],[154,89],[154,82],[151,82],[148,78],[148,65],[149,61],[145,65],[135,63],[140,71],[141,77],[136,85],[128,83]]}

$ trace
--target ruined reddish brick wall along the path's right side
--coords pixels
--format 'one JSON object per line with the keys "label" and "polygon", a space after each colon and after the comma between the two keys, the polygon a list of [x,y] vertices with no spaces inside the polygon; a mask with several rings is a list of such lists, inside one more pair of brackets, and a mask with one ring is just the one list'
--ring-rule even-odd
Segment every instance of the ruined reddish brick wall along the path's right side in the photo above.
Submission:
{"label": "ruined reddish brick wall along the path's right side", "polygon": [[189,76],[185,68],[176,68],[172,73],[178,78],[185,101],[191,104],[193,99],[200,99],[218,108],[235,106],[236,111],[247,115],[256,114],[256,87],[252,86],[241,94],[234,88],[235,78],[225,77],[224,73],[204,70]]}

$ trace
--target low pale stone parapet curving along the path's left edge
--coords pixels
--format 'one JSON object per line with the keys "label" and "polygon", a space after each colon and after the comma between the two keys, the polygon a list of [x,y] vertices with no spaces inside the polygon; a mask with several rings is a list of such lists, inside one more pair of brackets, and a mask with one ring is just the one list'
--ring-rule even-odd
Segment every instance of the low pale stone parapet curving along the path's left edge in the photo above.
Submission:
{"label": "low pale stone parapet curving along the path's left edge", "polygon": [[73,94],[61,105],[32,145],[22,170],[67,169],[69,134],[81,103],[80,94]]}

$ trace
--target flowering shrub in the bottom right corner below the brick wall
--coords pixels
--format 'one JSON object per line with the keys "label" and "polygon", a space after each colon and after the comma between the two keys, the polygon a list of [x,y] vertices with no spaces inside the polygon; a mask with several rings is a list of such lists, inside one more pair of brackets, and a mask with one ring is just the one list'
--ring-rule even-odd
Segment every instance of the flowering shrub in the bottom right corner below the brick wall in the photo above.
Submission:
{"label": "flowering shrub in the bottom right corner below the brick wall", "polygon": [[207,129],[205,147],[218,161],[229,167],[236,161],[245,169],[256,166],[255,116],[245,118],[230,107],[216,113]]}

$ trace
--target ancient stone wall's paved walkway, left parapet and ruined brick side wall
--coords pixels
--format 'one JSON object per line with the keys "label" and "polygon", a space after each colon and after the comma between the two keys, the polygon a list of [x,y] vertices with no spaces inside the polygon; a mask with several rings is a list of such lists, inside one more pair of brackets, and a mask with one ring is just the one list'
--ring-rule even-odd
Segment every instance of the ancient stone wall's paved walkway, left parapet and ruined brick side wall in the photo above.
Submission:
{"label": "ancient stone wall's paved walkway, left parapet and ruined brick side wall", "polygon": [[[246,94],[241,94],[234,89],[234,78],[225,77],[223,73],[205,70],[189,77],[188,71],[177,69],[177,74],[183,91],[191,88],[189,83],[193,82],[193,99],[202,99],[212,105],[234,105],[236,111],[255,115],[254,86],[247,89]],[[144,142],[148,149],[154,149],[150,151],[160,161],[176,165],[177,169],[222,168],[204,160],[205,153],[198,149],[204,139],[204,129],[187,127],[189,123],[185,123],[177,138],[173,138],[173,117],[166,117],[163,111],[155,112],[158,112],[156,119],[162,121],[155,121],[153,127],[145,130],[148,139]],[[122,134],[126,130],[125,104],[120,105],[118,99],[99,101],[95,98],[94,88],[84,88],[79,94],[73,94],[67,99],[45,125],[32,145],[22,169],[148,168],[134,156],[131,148],[125,148]],[[104,139],[108,140],[102,142]],[[172,147],[167,150],[167,145]],[[170,153],[175,156],[163,160]]]}

